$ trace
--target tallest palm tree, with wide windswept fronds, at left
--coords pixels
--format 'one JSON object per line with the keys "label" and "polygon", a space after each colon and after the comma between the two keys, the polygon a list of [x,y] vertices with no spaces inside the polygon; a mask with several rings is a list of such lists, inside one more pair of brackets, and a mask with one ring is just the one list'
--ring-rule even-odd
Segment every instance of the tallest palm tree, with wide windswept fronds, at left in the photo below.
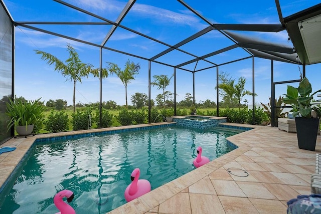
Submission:
{"label": "tallest palm tree, with wide windswept fronds, at left", "polygon": [[[47,61],[48,65],[55,65],[55,71],[61,72],[63,76],[67,78],[67,80],[71,80],[74,82],[74,94],[73,94],[73,106],[74,106],[74,113],[76,111],[76,82],[81,82],[83,77],[89,76],[89,74],[93,74],[94,77],[99,76],[100,69],[93,69],[91,64],[85,64],[81,62],[79,59],[78,53],[75,49],[70,45],[67,44],[67,51],[69,52],[69,58],[63,62],[59,60],[57,57],[43,52],[39,50],[34,50],[36,54],[41,54],[41,59]],[[102,77],[107,78],[108,73],[106,69],[102,70]]]}

